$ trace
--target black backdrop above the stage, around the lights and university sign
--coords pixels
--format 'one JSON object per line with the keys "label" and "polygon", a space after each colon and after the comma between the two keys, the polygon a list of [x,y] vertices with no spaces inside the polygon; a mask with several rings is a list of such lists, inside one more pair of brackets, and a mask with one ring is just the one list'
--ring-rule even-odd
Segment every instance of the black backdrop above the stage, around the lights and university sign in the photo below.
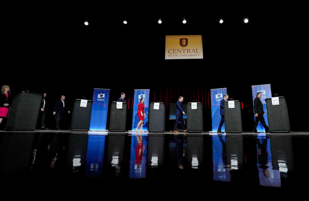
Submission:
{"label": "black backdrop above the stage, around the lights and university sign", "polygon": [[[251,85],[271,84],[273,96],[287,99],[291,130],[308,131],[307,33],[298,12],[243,11],[139,9],[122,4],[104,9],[14,10],[3,28],[0,85],[11,85],[13,95],[45,91],[50,114],[61,95],[72,107],[74,99],[91,100],[93,88],[111,89],[109,102],[121,92],[131,101],[134,89],[150,89],[150,102],[167,105],[184,96],[185,103],[196,99],[203,103],[205,131],[211,130],[210,89],[227,87],[230,98],[244,104],[243,131],[251,131]],[[183,17],[187,24],[182,24]],[[202,35],[204,58],[165,60],[165,35]],[[166,130],[174,124],[168,115]],[[129,106],[127,130],[131,117]],[[47,118],[50,128],[52,118]],[[66,121],[69,128],[70,115]]]}

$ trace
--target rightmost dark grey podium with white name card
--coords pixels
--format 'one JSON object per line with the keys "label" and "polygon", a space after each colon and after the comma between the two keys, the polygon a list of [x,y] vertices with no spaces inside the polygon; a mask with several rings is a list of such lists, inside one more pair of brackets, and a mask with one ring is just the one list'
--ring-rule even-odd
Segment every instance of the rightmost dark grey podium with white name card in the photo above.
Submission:
{"label": "rightmost dark grey podium with white name card", "polygon": [[269,132],[290,132],[288,106],[285,97],[279,97],[279,105],[273,105],[271,98],[266,98]]}

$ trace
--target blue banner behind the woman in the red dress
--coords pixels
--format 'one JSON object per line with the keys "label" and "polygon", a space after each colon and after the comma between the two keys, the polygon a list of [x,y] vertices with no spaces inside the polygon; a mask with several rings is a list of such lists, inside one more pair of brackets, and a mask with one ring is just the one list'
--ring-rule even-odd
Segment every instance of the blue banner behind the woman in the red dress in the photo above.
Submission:
{"label": "blue banner behind the woman in the red dress", "polygon": [[140,103],[141,98],[145,98],[144,111],[145,111],[146,118],[144,118],[143,131],[148,130],[149,91],[150,91],[149,89],[135,89],[134,90],[132,131],[135,131],[135,128],[137,127],[138,122],[140,122],[140,119],[137,116],[137,110],[138,110],[138,104]]}

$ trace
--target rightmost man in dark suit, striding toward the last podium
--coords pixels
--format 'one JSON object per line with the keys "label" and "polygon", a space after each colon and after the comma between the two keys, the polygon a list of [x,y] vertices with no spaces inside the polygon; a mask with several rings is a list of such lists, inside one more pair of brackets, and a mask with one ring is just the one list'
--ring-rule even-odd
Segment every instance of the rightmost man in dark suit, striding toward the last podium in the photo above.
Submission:
{"label": "rightmost man in dark suit, striding toward the last podium", "polygon": [[261,92],[257,92],[256,93],[256,98],[253,101],[253,103],[254,103],[254,113],[255,113],[255,122],[253,124],[252,133],[257,133],[258,132],[256,130],[256,127],[258,126],[259,121],[264,126],[265,132],[266,133],[269,132],[268,126],[266,125],[265,119],[263,117],[263,115],[265,115],[265,112],[263,110],[263,103],[260,100],[260,98],[262,98],[262,93]]}

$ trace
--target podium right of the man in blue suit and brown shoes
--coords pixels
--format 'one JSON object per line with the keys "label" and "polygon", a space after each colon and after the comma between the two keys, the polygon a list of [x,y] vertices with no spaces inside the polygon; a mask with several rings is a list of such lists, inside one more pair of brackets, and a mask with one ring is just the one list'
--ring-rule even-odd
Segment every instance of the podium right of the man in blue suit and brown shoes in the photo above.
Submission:
{"label": "podium right of the man in blue suit and brown shoes", "polygon": [[191,103],[187,103],[187,130],[188,132],[203,131],[202,103],[197,103],[197,110],[192,110]]}

